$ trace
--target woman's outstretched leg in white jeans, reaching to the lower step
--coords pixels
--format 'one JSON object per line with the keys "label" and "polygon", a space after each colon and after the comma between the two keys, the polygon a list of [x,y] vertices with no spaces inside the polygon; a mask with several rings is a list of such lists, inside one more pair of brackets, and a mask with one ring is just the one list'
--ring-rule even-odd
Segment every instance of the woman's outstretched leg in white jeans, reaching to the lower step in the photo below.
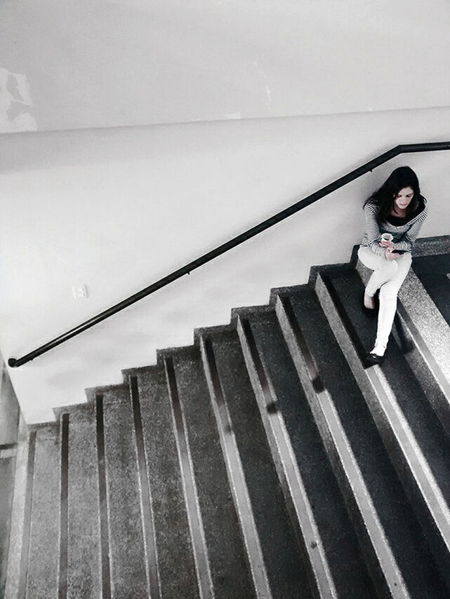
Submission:
{"label": "woman's outstretched leg in white jeans, reaching to the lower step", "polygon": [[386,345],[392,323],[394,322],[395,310],[397,309],[397,295],[399,288],[411,267],[411,254],[406,253],[392,262],[397,263],[397,271],[390,281],[384,283],[380,288],[380,311],[378,313],[378,328],[373,354],[384,356]]}

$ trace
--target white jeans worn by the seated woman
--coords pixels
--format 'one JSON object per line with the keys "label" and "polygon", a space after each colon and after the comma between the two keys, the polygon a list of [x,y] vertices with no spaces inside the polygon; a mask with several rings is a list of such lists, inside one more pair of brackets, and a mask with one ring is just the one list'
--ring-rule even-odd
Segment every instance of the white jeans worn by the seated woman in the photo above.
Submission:
{"label": "white jeans worn by the seated woman", "polygon": [[373,253],[371,248],[361,245],[358,257],[365,267],[373,270],[366,285],[366,294],[373,297],[376,290],[380,290],[375,347],[384,354],[397,309],[397,294],[411,267],[411,253],[406,252],[395,260],[386,260]]}

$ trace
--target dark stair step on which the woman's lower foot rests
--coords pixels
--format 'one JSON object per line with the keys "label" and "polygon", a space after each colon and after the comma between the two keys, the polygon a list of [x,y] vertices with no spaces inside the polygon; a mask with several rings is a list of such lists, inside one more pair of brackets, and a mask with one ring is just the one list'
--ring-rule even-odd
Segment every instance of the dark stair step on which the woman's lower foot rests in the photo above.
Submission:
{"label": "dark stair step on which the woman's lower foot rests", "polygon": [[359,309],[353,269],[319,274],[317,292],[352,368],[392,464],[450,586],[450,439],[395,342],[383,365],[364,368],[376,322]]}

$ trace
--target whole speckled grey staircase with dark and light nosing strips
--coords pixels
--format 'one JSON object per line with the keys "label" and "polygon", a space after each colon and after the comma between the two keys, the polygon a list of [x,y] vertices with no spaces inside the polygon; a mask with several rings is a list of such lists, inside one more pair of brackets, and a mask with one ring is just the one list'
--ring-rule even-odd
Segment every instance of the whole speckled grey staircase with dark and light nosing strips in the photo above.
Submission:
{"label": "whole speckled grey staircase with dark and light nosing strips", "polygon": [[[415,253],[450,272],[450,237]],[[450,294],[411,271],[367,368],[367,276],[314,267],[32,427],[6,599],[449,598]]]}

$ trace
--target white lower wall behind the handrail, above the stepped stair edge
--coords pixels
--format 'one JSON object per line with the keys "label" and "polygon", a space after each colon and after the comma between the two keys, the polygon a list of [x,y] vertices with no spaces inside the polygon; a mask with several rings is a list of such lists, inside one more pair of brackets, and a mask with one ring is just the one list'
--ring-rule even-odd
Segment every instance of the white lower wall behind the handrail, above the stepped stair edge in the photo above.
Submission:
{"label": "white lower wall behind the handrail, above the stepped stair edge", "polygon": [[[402,142],[450,140],[450,109],[3,135],[0,350],[19,357]],[[362,202],[409,163],[449,234],[450,154],[400,157],[34,362],[10,369],[27,422],[347,262]],[[71,286],[86,284],[87,300]]]}

